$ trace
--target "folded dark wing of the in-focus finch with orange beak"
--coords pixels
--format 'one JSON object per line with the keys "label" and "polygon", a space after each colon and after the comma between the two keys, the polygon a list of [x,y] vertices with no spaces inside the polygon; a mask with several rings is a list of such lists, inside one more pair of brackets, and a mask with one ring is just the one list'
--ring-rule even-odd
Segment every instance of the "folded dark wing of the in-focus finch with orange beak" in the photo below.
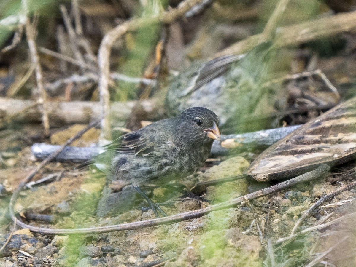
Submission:
{"label": "folded dark wing of the in-focus finch with orange beak", "polygon": [[[166,120],[164,120],[166,121]],[[157,146],[162,146],[169,141],[169,125],[160,121],[152,123],[140,130],[122,135],[106,146],[108,150],[119,153],[134,154],[135,156],[148,156]],[[163,134],[163,129],[166,134]]]}

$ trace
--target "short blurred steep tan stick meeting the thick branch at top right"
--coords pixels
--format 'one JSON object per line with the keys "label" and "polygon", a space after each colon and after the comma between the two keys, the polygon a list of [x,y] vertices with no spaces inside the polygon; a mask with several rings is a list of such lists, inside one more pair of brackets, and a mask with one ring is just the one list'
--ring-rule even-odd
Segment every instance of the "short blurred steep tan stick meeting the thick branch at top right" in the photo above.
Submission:
{"label": "short blurred steep tan stick meeting the thick branch at top right", "polygon": [[261,34],[260,43],[273,39],[278,22],[281,20],[289,0],[280,0]]}

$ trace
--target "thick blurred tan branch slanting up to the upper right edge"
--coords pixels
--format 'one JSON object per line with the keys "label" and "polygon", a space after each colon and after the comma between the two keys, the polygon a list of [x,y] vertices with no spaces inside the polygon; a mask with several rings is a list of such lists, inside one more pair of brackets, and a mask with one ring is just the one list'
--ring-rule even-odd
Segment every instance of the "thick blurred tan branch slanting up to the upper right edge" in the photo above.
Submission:
{"label": "thick blurred tan branch slanting up to the upper right edge", "polygon": [[[352,31],[355,27],[356,11],[319,18],[313,21],[277,28],[275,45],[277,47],[296,46],[310,40]],[[246,53],[251,47],[254,47],[260,39],[261,34],[252,35],[216,53],[213,57]]]}

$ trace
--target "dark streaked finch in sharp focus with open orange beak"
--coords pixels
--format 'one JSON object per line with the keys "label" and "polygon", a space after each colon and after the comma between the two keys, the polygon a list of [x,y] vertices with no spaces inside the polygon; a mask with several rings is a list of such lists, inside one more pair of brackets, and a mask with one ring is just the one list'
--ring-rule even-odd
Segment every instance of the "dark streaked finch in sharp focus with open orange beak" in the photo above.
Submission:
{"label": "dark streaked finch in sharp focus with open orange beak", "polygon": [[164,185],[191,175],[203,166],[214,139],[220,140],[218,125],[214,112],[193,107],[125,134],[115,148],[112,171],[133,186]]}

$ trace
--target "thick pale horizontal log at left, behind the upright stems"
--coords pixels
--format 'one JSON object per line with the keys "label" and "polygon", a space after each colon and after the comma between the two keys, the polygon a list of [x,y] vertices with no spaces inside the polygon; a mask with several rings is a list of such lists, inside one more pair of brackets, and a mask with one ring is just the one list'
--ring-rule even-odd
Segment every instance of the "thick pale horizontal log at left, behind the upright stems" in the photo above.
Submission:
{"label": "thick pale horizontal log at left, behind the upright stems", "polygon": [[[42,113],[38,108],[38,105],[34,105],[33,108],[26,110],[35,101],[32,100],[19,100],[13,98],[3,98],[0,97],[0,118],[11,117],[12,115],[22,112],[20,115],[16,116],[18,121],[26,122],[41,122]],[[112,121],[125,121],[132,108],[136,105],[136,101],[127,102],[113,102],[111,104],[111,114]],[[148,114],[153,111],[155,107],[154,100],[142,100],[140,105],[143,110]],[[89,102],[89,101],[71,101],[71,102],[61,102],[61,101],[48,101],[48,117],[49,122],[52,125],[57,124],[73,124],[80,123],[86,124],[93,121],[101,116],[101,106],[99,102]]]}

